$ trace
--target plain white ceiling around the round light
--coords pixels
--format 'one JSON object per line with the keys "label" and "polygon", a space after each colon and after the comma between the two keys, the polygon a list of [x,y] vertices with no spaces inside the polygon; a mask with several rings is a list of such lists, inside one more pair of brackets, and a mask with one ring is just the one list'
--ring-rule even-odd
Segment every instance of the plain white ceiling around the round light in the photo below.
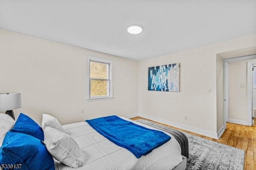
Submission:
{"label": "plain white ceiling around the round light", "polygon": [[0,28],[139,61],[256,34],[256,0],[0,0]]}

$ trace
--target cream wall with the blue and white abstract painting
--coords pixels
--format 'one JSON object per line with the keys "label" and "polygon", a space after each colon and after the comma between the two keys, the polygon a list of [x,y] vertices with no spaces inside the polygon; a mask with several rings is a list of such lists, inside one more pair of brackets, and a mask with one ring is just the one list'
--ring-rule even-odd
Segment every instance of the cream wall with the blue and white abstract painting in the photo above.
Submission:
{"label": "cream wall with the blue and white abstract painting", "polygon": [[[222,61],[216,61],[217,54],[255,45],[256,35],[253,35],[140,61],[139,115],[156,117],[170,124],[175,122],[180,127],[216,138],[223,124],[223,104],[217,105],[217,87],[218,96],[223,96],[219,81]],[[148,67],[170,63],[180,63],[180,92],[148,91]],[[208,93],[208,89],[212,89],[212,93]],[[184,120],[185,116],[188,120]]]}

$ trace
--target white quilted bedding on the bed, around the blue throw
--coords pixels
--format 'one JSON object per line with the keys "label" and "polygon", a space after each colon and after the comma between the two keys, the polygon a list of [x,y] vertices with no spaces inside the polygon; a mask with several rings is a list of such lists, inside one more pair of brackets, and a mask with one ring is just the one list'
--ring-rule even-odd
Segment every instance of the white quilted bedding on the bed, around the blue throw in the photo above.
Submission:
{"label": "white quilted bedding on the bed, around the blue throw", "polygon": [[[120,118],[131,121],[124,117]],[[137,159],[130,151],[109,141],[86,122],[62,127],[64,132],[77,142],[85,158],[84,166],[76,170],[170,170],[182,162],[180,145],[171,134],[166,132],[171,136],[171,140]],[[54,164],[56,170],[74,170],[56,160]]]}

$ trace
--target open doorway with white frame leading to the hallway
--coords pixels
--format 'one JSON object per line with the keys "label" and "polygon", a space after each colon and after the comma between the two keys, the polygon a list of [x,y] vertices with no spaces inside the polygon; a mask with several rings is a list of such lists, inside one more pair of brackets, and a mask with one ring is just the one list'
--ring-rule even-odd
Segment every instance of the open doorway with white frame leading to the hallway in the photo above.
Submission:
{"label": "open doorway with white frame leading to the hallway", "polygon": [[[224,127],[226,128],[226,122],[241,124],[241,125],[248,125],[252,126],[254,124],[253,122],[253,99],[252,99],[252,90],[253,90],[253,72],[252,68],[254,64],[256,64],[256,55],[248,55],[243,57],[236,57],[236,58],[230,58],[230,59],[224,59],[224,71],[223,71],[223,80],[224,80]],[[250,61],[247,61],[250,60]],[[234,73],[232,75],[229,73],[229,66],[234,67],[234,63],[236,61],[240,61],[244,63],[244,67],[247,67],[244,71],[244,81],[238,81],[235,82],[232,81],[231,85],[229,83],[229,80],[231,77],[234,77]],[[230,76],[230,77],[229,77]],[[248,78],[251,77],[251,78]],[[232,88],[230,88],[230,86]],[[235,101],[232,97],[232,95],[229,94],[230,89],[233,91],[243,91],[243,102],[241,103],[238,99],[239,96],[236,96],[237,101]],[[233,95],[235,96],[235,95]],[[232,98],[231,98],[232,97]],[[236,106],[237,108],[240,108],[239,105],[242,104],[242,111],[237,114],[236,109],[230,109],[230,106]],[[232,111],[232,113],[231,113]]]}

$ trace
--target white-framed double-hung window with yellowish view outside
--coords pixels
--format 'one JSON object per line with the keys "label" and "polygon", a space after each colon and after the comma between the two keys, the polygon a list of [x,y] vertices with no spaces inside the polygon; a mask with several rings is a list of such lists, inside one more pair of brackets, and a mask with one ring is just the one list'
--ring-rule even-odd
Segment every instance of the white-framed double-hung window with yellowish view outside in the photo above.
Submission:
{"label": "white-framed double-hung window with yellowish view outside", "polygon": [[112,61],[88,56],[88,100],[113,99]]}

